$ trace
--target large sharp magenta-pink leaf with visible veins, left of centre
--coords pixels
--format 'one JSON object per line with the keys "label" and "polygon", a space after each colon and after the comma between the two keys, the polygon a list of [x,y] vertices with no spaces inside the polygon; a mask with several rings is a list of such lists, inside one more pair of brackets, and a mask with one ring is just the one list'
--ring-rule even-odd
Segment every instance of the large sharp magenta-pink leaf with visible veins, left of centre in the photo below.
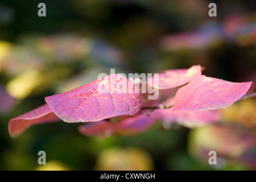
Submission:
{"label": "large sharp magenta-pink leaf with visible veins, left of centre", "polygon": [[141,110],[139,90],[118,74],[46,97],[46,102],[65,122],[101,121]]}

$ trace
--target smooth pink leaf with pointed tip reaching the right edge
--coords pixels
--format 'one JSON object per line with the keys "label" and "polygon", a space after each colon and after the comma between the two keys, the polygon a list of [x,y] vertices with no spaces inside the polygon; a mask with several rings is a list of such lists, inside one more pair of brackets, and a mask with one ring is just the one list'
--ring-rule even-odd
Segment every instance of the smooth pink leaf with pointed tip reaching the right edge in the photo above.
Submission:
{"label": "smooth pink leaf with pointed tip reaching the right edge", "polygon": [[253,82],[229,82],[202,75],[177,90],[174,111],[228,107],[253,89]]}

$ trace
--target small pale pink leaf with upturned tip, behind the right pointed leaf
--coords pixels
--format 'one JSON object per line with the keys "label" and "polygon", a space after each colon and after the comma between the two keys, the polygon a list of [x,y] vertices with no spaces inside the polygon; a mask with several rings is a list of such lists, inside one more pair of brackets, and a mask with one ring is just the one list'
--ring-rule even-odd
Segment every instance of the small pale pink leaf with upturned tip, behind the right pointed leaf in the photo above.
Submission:
{"label": "small pale pink leaf with upturned tip, behind the right pointed leaf", "polygon": [[[155,77],[148,78],[147,83],[158,89],[170,89],[187,84],[201,75],[201,66],[194,65],[189,69],[170,69],[159,74],[159,82]],[[153,84],[154,83],[154,84]]]}

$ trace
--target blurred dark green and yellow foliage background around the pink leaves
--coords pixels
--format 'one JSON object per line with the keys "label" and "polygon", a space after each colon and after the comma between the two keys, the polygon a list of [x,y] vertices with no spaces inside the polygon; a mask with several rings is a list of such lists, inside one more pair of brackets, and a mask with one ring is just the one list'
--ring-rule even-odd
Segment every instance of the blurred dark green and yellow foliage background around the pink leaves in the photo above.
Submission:
{"label": "blurred dark green and yellow foliage background around the pink leaves", "polygon": [[[46,4],[46,17],[38,4]],[[208,5],[217,5],[217,17]],[[256,2],[205,0],[0,1],[1,170],[253,170],[256,100],[222,110],[221,124],[156,124],[133,136],[86,137],[76,123],[8,123],[44,97],[100,73],[160,73],[200,64],[204,75],[256,81]],[[38,152],[47,164],[39,166]],[[208,152],[217,152],[217,165]]]}

